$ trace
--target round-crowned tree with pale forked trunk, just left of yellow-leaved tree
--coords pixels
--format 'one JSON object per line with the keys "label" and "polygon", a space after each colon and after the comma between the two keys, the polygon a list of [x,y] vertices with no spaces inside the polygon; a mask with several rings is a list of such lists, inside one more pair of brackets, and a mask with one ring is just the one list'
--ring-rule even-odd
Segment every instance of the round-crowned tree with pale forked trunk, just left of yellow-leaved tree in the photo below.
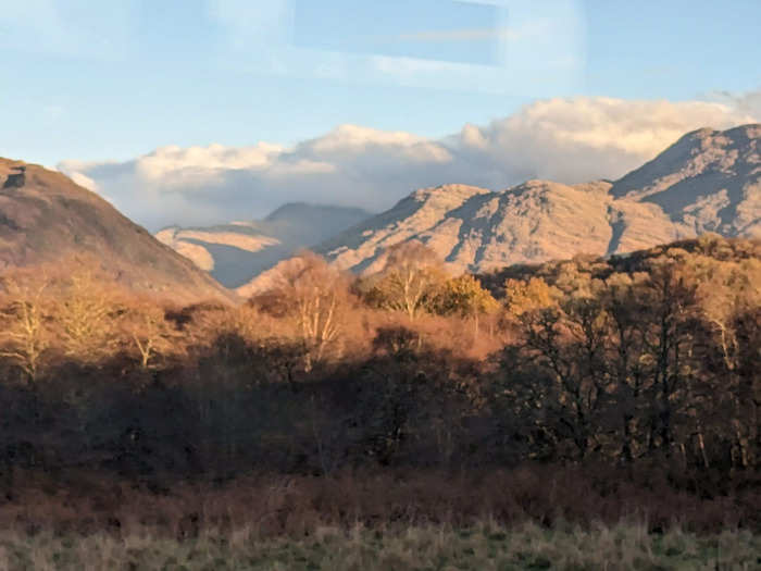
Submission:
{"label": "round-crowned tree with pale forked trunk, just left of yellow-leaved tree", "polygon": [[386,264],[375,276],[366,299],[380,308],[402,311],[412,321],[433,309],[446,276],[436,253],[420,241],[389,248]]}

